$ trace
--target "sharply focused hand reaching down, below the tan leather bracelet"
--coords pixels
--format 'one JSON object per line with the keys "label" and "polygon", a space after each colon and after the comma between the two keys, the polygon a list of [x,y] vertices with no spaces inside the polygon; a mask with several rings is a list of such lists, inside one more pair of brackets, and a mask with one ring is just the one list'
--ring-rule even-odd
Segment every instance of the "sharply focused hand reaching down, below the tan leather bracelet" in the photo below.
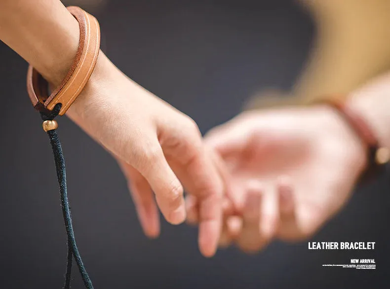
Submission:
{"label": "sharply focused hand reaching down, below the tan leather bracelet", "polygon": [[116,157],[146,235],[159,234],[156,202],[168,222],[185,220],[183,184],[199,199],[200,250],[215,253],[223,182],[190,117],[127,78],[103,53],[67,114]]}

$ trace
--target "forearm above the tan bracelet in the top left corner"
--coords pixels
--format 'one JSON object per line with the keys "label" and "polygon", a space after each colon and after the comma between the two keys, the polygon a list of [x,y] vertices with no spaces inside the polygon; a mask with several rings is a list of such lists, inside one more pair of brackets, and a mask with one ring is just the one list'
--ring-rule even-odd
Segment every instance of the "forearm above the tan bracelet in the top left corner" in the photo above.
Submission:
{"label": "forearm above the tan bracelet in the top left corner", "polygon": [[0,39],[57,85],[76,56],[79,27],[60,0],[1,0]]}

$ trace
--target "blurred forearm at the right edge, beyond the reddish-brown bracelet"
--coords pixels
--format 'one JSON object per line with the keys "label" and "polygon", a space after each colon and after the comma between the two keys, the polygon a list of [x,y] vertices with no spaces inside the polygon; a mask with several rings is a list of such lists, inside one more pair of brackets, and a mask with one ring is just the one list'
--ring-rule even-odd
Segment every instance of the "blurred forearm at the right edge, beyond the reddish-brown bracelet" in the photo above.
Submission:
{"label": "blurred forearm at the right edge, beyond the reddish-brown bracelet", "polygon": [[380,145],[390,148],[390,72],[353,92],[348,105],[367,120]]}

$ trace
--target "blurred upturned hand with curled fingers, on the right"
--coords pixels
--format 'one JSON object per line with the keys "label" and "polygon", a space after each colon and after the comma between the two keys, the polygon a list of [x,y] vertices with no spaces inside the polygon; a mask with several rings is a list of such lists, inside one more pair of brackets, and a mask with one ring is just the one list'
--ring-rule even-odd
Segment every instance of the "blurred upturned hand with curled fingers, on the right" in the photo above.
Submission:
{"label": "blurred upturned hand with curled fingers, on the right", "polygon": [[[325,106],[244,112],[205,142],[231,174],[234,210],[226,206],[221,245],[234,241],[248,252],[275,237],[311,236],[345,205],[366,164],[364,145]],[[190,221],[196,203],[189,198]]]}

